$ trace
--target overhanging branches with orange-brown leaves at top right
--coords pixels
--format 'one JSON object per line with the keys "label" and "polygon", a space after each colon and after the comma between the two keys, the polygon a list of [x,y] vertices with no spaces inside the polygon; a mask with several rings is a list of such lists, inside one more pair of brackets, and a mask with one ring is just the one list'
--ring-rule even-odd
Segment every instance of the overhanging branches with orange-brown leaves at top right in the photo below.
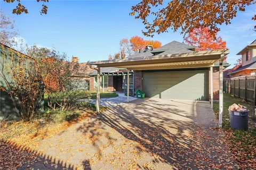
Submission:
{"label": "overhanging branches with orange-brown leaves at top right", "polygon": [[[246,6],[255,5],[255,0],[219,1],[219,0],[163,0],[141,1],[132,6],[130,15],[141,19],[145,24],[145,36],[154,33],[174,32],[189,33],[199,28],[209,28],[212,35],[220,30],[219,25],[230,24],[238,11],[245,11]],[[252,16],[256,20],[256,14]],[[256,25],[254,26],[256,31]]]}

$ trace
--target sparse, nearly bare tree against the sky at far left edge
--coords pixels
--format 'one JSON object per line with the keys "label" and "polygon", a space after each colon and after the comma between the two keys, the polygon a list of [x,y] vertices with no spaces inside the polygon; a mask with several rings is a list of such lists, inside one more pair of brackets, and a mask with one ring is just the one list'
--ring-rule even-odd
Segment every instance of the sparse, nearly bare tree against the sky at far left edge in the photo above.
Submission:
{"label": "sparse, nearly bare tree against the sky at far left edge", "polygon": [[14,21],[10,16],[4,14],[0,10],[0,42],[6,46],[13,46],[16,44],[14,37],[18,35],[14,27]]}

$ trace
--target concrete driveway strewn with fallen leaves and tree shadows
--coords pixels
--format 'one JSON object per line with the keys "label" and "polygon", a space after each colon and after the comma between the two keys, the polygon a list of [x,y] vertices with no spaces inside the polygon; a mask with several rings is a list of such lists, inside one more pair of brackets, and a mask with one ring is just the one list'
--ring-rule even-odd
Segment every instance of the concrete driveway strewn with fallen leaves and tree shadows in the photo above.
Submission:
{"label": "concrete driveway strewn with fallen leaves and tree shadows", "polygon": [[[209,103],[138,99],[38,146],[35,169],[231,169]],[[54,161],[54,164],[52,163]],[[26,169],[27,165],[20,169]]]}

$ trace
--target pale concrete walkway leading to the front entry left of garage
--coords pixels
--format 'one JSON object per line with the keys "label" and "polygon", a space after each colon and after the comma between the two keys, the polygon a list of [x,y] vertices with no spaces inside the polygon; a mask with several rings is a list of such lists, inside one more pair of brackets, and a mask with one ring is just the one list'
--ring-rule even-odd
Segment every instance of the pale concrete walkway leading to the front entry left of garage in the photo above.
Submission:
{"label": "pale concrete walkway leading to the front entry left of garage", "polygon": [[[107,107],[116,107],[118,105],[122,105],[127,103],[127,96],[124,95],[122,92],[116,92],[118,94],[117,97],[113,98],[101,98],[100,105],[107,106]],[[136,100],[137,98],[129,96],[129,101]],[[95,99],[83,99],[82,101],[86,101],[88,103],[96,104]]]}

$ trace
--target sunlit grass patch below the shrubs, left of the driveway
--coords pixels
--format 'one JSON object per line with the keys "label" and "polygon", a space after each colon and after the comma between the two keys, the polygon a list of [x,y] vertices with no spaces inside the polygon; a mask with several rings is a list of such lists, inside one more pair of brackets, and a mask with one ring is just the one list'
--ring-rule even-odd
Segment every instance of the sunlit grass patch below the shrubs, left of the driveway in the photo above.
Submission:
{"label": "sunlit grass patch below the shrubs, left of the driveway", "polygon": [[[100,109],[102,111],[105,107]],[[95,110],[94,104],[81,102],[79,103],[79,109],[71,111],[47,109],[44,113],[36,115],[30,121],[0,121],[0,141],[8,141],[24,135],[43,133],[45,131],[49,135],[55,134],[64,130],[69,125],[95,114]]]}

